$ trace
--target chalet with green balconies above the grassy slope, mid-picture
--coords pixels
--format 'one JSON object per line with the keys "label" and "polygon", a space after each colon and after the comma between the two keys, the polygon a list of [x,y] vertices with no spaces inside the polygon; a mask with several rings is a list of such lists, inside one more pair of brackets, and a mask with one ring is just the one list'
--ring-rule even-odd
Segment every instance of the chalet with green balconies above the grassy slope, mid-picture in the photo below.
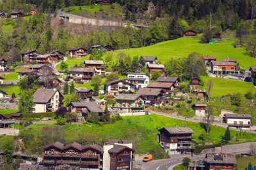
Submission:
{"label": "chalet with green balconies above the grassy slope, mid-picture", "polygon": [[138,94],[119,94],[111,108],[122,113],[144,112],[144,99]]}

